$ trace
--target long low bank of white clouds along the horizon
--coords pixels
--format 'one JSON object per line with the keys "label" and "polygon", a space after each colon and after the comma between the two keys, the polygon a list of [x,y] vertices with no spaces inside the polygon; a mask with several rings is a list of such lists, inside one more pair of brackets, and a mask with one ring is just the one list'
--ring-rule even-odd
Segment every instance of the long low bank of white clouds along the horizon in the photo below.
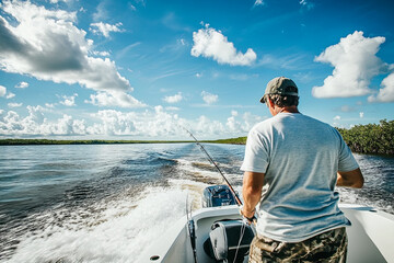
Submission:
{"label": "long low bank of white clouds along the horizon", "polygon": [[0,110],[0,137],[24,136],[131,136],[144,139],[179,139],[187,138],[181,128],[187,127],[195,136],[201,139],[229,138],[245,136],[251,127],[260,122],[259,116],[236,112],[231,113],[227,123],[211,119],[201,115],[194,119],[179,117],[173,111],[167,112],[163,106],[153,110],[146,108],[139,112],[120,112],[103,110],[91,114],[89,119],[62,115],[48,121],[47,113],[54,114],[50,108],[43,106],[27,106],[27,116],[20,116],[14,111]]}

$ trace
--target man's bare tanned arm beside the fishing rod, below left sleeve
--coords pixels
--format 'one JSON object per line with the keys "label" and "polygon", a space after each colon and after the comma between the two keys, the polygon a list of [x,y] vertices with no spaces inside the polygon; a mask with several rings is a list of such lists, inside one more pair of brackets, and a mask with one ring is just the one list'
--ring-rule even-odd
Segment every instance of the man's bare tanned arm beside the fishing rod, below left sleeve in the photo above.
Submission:
{"label": "man's bare tanned arm beside the fishing rod, below left sleeve", "polygon": [[264,184],[264,173],[244,172],[242,196],[244,199],[242,215],[252,218],[255,214],[255,207],[262,198]]}

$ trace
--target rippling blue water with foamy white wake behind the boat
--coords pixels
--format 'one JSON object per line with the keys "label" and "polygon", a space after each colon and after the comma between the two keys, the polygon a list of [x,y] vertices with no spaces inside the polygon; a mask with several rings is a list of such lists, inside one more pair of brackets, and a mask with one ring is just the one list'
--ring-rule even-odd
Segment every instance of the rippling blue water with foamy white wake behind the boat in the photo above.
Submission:
{"label": "rippling blue water with foamy white wake behind the boat", "polygon": [[[206,148],[241,192],[244,146]],[[366,187],[341,201],[394,214],[394,159],[356,158]],[[194,144],[0,147],[0,262],[138,262],[219,183]]]}

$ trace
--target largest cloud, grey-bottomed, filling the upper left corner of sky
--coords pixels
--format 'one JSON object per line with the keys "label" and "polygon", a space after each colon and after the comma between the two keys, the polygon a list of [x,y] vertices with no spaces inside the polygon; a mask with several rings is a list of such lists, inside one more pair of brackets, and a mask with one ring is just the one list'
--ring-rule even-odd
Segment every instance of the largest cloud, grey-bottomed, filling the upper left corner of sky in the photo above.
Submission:
{"label": "largest cloud, grey-bottomed, filling the upper left corner of sky", "polygon": [[2,10],[18,22],[0,15],[2,70],[96,91],[132,90],[114,61],[89,56],[93,41],[74,25],[76,12],[47,10],[30,1],[3,1]]}

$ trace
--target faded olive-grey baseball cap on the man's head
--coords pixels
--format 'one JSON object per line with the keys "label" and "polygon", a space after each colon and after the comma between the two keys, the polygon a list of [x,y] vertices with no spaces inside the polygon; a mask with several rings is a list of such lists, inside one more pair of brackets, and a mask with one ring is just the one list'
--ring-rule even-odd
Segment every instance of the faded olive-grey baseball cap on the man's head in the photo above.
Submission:
{"label": "faded olive-grey baseball cap on the man's head", "polygon": [[278,77],[268,82],[266,91],[260,99],[262,103],[265,103],[265,98],[268,94],[298,96],[298,88],[291,79]]}

